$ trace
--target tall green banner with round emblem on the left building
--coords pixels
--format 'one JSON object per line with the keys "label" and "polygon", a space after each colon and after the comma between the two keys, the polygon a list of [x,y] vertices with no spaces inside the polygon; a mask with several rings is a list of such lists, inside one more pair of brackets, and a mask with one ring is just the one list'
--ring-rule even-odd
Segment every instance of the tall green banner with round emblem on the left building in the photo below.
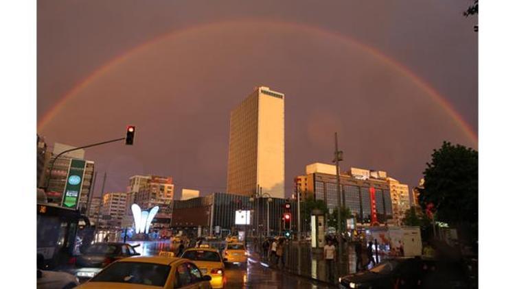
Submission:
{"label": "tall green banner with round emblem on the left building", "polygon": [[65,193],[62,197],[62,206],[76,209],[79,203],[82,178],[84,177],[85,160],[71,160],[66,179]]}

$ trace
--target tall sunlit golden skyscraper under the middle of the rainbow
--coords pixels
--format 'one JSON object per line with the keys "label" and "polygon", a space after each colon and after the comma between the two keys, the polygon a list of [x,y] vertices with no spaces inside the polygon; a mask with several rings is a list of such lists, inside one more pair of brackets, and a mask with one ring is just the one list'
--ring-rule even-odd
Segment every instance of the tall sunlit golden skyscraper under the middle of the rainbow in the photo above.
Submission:
{"label": "tall sunlit golden skyscraper under the middle of the rainbow", "polygon": [[231,110],[227,192],[284,198],[284,94],[265,86]]}

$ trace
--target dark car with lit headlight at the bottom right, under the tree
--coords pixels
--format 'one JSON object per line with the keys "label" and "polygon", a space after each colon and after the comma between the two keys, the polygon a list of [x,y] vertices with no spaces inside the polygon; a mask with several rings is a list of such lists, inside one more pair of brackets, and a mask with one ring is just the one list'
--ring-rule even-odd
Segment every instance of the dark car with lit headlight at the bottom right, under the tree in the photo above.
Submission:
{"label": "dark car with lit headlight at the bottom right, under the tree", "polygon": [[418,257],[385,260],[371,268],[339,278],[340,288],[470,288],[459,264]]}

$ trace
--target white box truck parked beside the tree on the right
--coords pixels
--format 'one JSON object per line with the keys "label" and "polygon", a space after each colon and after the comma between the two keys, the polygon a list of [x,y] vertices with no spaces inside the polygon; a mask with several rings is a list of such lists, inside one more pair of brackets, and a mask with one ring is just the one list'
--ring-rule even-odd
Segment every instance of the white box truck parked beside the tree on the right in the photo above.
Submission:
{"label": "white box truck parked beside the tree on the right", "polygon": [[367,229],[367,243],[378,244],[378,251],[386,255],[414,257],[422,255],[420,227],[371,227]]}

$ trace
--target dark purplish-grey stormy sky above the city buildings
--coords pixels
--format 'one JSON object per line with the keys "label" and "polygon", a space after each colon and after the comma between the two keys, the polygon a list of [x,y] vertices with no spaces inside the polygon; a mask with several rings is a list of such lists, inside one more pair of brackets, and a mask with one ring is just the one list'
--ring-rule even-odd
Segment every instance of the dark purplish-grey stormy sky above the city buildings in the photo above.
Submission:
{"label": "dark purplish-grey stormy sky above the city buildings", "polygon": [[80,146],[134,124],[133,147],[87,150],[106,190],[157,174],[174,177],[178,195],[224,191],[229,112],[264,85],[286,94],[288,194],[306,164],[332,160],[334,131],[343,169],[412,186],[443,140],[477,149],[416,80],[477,134],[469,2],[38,1],[38,134]]}

